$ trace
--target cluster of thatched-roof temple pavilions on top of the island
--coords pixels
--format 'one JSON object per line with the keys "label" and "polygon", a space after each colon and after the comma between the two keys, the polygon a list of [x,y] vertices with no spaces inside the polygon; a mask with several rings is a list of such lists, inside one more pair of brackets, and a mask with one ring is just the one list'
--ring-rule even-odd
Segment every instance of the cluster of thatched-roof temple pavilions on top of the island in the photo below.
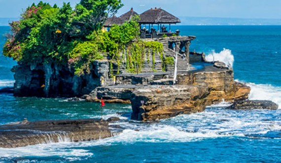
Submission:
{"label": "cluster of thatched-roof temple pavilions on top of the island", "polygon": [[[151,8],[140,15],[131,8],[129,12],[120,17],[114,15],[113,17],[108,18],[105,21],[104,27],[109,30],[109,28],[114,25],[122,25],[126,21],[130,21],[133,16],[140,16],[140,20],[138,21],[140,24],[140,38],[159,38],[164,35],[179,35],[178,30],[172,32],[171,24],[180,23],[180,20],[176,16],[163,10],[161,7]],[[169,28],[167,26],[169,26]]]}

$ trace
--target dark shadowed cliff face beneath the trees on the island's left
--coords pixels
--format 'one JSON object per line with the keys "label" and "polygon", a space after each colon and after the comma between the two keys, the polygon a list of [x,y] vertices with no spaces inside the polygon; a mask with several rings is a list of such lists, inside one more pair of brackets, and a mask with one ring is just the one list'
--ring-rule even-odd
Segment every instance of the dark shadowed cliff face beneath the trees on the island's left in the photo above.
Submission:
{"label": "dark shadowed cliff face beneath the trees on the island's left", "polygon": [[[78,77],[74,70],[55,63],[29,65],[20,63],[12,71],[15,73],[15,96],[74,97],[90,93],[101,86],[100,78],[113,82],[109,77],[109,62],[94,61],[91,73]],[[105,83],[107,84],[107,83]]]}

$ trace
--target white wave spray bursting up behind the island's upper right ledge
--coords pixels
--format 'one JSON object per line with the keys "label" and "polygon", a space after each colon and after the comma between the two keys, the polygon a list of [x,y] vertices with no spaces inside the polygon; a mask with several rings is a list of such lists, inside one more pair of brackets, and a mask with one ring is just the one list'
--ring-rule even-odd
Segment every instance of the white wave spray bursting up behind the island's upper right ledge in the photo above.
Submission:
{"label": "white wave spray bursting up behind the island's upper right ledge", "polygon": [[229,49],[223,49],[220,53],[215,53],[213,50],[211,54],[206,55],[206,60],[208,61],[221,61],[228,67],[233,67],[234,56]]}

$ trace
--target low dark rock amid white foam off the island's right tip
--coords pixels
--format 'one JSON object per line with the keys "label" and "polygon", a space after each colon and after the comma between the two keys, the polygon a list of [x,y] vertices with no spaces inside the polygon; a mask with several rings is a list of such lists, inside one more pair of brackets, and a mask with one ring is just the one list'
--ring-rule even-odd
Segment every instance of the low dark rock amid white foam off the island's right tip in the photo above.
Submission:
{"label": "low dark rock amid white foam off the island's right tip", "polygon": [[226,109],[235,109],[235,110],[243,110],[243,109],[270,109],[276,110],[278,109],[278,105],[272,101],[267,100],[246,100],[246,101],[235,101],[232,106]]}

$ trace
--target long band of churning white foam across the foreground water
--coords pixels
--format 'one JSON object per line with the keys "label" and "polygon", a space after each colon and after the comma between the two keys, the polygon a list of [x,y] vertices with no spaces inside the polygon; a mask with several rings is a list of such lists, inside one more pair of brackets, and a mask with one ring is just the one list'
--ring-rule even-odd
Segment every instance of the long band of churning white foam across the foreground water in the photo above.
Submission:
{"label": "long band of churning white foam across the foreground water", "polygon": [[[122,134],[106,139],[86,142],[66,142],[40,144],[15,149],[0,148],[0,157],[64,156],[66,159],[92,157],[92,152],[82,149],[93,146],[132,144],[135,142],[189,142],[217,137],[266,135],[270,131],[281,130],[281,110],[226,110],[208,108],[201,113],[180,115],[162,120],[160,123],[145,124],[120,122],[127,128]],[[272,118],[277,117],[277,118]],[[136,131],[138,130],[138,131]]]}

